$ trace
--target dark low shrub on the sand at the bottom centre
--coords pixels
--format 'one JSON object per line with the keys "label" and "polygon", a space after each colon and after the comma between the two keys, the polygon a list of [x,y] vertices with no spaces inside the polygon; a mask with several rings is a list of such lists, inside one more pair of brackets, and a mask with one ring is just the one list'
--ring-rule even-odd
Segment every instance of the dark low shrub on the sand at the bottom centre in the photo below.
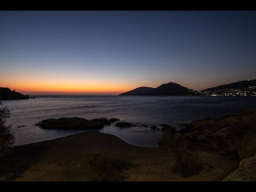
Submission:
{"label": "dark low shrub on the sand at the bottom centre", "polygon": [[92,169],[91,180],[93,181],[121,181],[121,171],[131,166],[120,159],[105,157],[99,153],[92,154],[87,158]]}

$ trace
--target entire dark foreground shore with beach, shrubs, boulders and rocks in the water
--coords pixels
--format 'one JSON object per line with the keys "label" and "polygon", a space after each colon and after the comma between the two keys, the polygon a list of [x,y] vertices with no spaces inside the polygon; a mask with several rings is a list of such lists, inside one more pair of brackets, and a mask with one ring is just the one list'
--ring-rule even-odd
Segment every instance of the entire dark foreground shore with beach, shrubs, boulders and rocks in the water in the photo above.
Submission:
{"label": "entire dark foreground shore with beach, shrubs, boulders and rocks in the water", "polygon": [[[84,129],[91,126],[100,129],[111,122],[129,129],[129,123],[118,120],[46,119],[39,126],[76,129],[83,125]],[[179,131],[170,125],[160,126],[163,137],[159,148],[133,146],[114,135],[98,131],[15,146],[9,156],[0,160],[0,180],[256,180],[255,110],[221,119],[198,120]],[[156,126],[151,129],[156,129]]]}

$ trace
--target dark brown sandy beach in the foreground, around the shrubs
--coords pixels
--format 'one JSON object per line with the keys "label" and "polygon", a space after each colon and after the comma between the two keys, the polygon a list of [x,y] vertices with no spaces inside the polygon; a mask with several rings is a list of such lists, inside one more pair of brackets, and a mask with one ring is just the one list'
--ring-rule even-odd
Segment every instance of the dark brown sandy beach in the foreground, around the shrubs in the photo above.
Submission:
{"label": "dark brown sandy beach in the foreground, around the shrubs", "polygon": [[[13,147],[1,163],[2,181],[90,181],[89,155],[125,159],[133,164],[122,171],[124,181],[220,181],[239,166],[238,161],[226,159],[216,151],[194,151],[205,169],[184,178],[173,173],[175,159],[166,148],[133,146],[115,135],[89,131]],[[225,162],[225,164],[223,164]]]}

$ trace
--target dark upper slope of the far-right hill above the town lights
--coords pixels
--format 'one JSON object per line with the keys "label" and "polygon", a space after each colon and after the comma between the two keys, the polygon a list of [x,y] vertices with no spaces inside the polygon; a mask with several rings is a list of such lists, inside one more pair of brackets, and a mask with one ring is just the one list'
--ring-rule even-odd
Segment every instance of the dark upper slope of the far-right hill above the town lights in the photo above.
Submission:
{"label": "dark upper slope of the far-right hill above the town lights", "polygon": [[224,90],[224,89],[243,89],[243,88],[247,88],[250,86],[256,86],[256,79],[250,80],[250,81],[239,81],[236,83],[220,85],[217,87],[211,87],[211,88],[205,89],[203,91]]}

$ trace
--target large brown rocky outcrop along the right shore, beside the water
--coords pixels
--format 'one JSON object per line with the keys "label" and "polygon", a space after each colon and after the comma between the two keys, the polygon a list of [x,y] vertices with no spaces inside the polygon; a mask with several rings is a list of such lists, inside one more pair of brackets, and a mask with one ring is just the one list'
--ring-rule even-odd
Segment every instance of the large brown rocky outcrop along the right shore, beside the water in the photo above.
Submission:
{"label": "large brown rocky outcrop along the right shore, beside the water", "polygon": [[200,141],[200,145],[206,149],[239,151],[244,142],[249,142],[246,135],[252,138],[251,141],[256,139],[256,114],[252,110],[222,119],[208,118],[195,121],[188,124],[181,133],[185,139]]}

